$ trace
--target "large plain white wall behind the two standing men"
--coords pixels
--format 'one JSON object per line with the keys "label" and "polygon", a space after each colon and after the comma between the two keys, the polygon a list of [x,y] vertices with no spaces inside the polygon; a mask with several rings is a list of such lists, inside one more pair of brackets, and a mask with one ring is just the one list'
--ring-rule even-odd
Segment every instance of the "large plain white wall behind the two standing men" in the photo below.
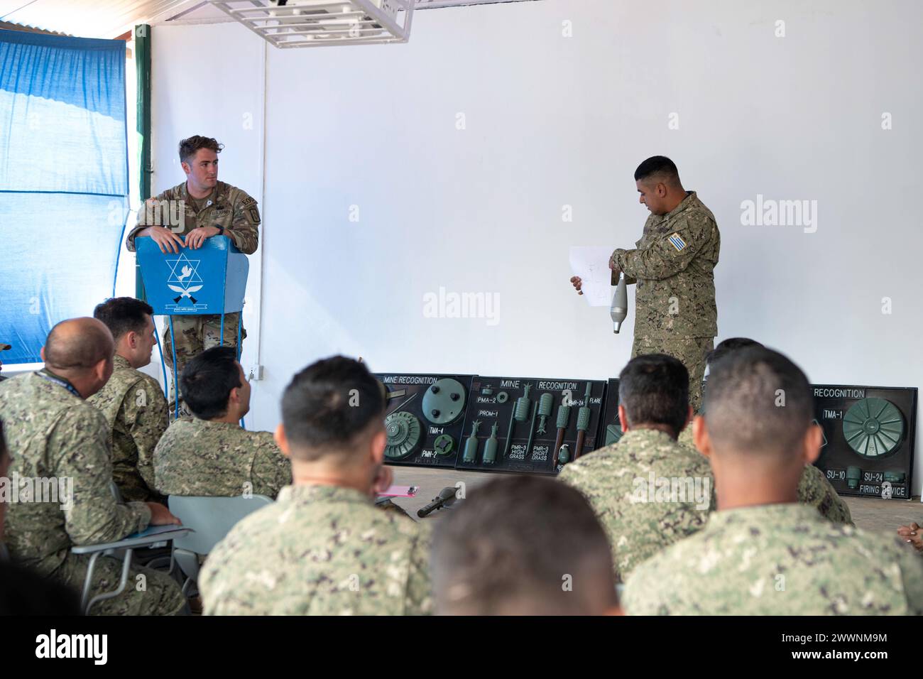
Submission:
{"label": "large plain white wall behind the two standing men", "polygon": [[[632,173],[657,153],[721,228],[719,339],[780,348],[812,382],[918,386],[923,6],[805,5],[544,0],[420,11],[406,45],[270,47],[251,425],[272,428],[292,373],[335,352],[382,371],[616,375],[631,333],[573,294],[568,248],[631,247],[647,214]],[[262,96],[260,39],[158,27],[153,45],[155,186],[175,183],[175,140],[208,130],[222,178],[257,196],[259,128],[241,118]],[[816,233],[742,225],[757,194],[817,200]],[[497,293],[497,324],[426,318],[440,286]]]}

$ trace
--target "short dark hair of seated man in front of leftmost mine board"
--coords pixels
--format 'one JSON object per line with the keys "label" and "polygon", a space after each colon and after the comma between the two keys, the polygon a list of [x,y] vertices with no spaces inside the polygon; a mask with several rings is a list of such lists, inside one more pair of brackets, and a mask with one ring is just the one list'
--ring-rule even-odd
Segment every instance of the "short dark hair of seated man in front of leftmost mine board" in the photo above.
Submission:
{"label": "short dark hair of seated man in front of leftmost mine board", "polygon": [[285,438],[311,451],[294,455],[302,459],[341,452],[370,422],[383,426],[384,411],[381,382],[365,363],[343,356],[312,363],[292,378],[282,394]]}

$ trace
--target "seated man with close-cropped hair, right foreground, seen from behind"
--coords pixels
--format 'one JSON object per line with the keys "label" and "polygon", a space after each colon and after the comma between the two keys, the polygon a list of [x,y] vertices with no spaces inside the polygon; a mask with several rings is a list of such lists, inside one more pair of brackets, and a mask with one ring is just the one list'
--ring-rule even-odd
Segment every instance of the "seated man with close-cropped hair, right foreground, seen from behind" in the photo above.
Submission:
{"label": "seated man with close-cropped hair, right foreground, seen from behind", "polygon": [[[780,403],[780,398],[784,402]],[[632,615],[919,615],[923,562],[899,540],[798,503],[821,451],[805,374],[763,347],[717,361],[695,443],[718,507],[695,535],[635,569]]]}

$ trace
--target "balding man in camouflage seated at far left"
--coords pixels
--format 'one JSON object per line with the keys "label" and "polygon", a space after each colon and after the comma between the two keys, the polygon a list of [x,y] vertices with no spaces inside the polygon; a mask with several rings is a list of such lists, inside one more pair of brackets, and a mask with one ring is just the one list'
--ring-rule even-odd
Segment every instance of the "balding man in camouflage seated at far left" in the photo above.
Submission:
{"label": "balding man in camouflage seated at far left", "polygon": [[[78,591],[90,555],[72,554],[71,547],[121,540],[149,525],[179,523],[162,504],[121,504],[114,498],[106,420],[84,403],[112,374],[113,354],[112,335],[100,321],[62,321],[42,349],[44,369],[0,385],[0,418],[13,457],[10,476],[20,485],[22,479],[49,479],[65,491],[64,497],[20,493],[18,502],[7,507],[6,546],[15,561]],[[90,596],[114,589],[121,569],[121,560],[99,558]],[[173,614],[186,609],[179,586],[166,574],[132,568],[128,582],[126,591],[91,612]]]}

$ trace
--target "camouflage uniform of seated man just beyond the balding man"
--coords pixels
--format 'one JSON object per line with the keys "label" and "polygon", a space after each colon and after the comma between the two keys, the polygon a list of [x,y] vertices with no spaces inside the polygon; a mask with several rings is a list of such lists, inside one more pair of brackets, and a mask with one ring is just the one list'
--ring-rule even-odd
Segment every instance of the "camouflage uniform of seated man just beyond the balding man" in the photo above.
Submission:
{"label": "camouflage uniform of seated man just beyond the balding man", "polygon": [[115,355],[109,382],[87,399],[109,425],[113,480],[122,499],[162,502],[154,490],[154,446],[167,428],[167,401],[161,385]]}

